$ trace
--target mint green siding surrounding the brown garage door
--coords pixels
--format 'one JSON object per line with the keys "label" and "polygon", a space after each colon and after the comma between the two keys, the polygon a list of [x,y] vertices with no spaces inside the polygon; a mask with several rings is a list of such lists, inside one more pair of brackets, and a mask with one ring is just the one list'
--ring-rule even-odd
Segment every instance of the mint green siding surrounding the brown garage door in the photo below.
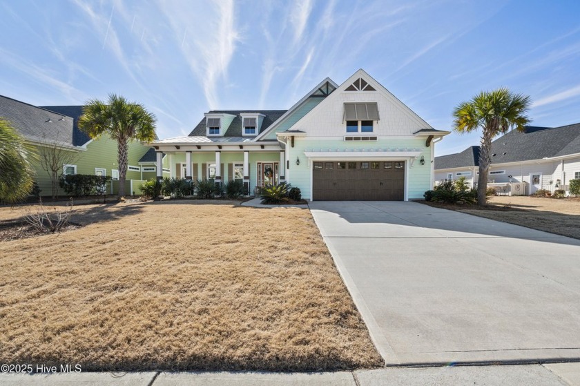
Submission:
{"label": "mint green siding surrounding the brown garage door", "polygon": [[[311,197],[311,175],[312,168],[307,162],[305,151],[308,149],[342,151],[351,149],[354,151],[370,151],[371,148],[421,148],[425,165],[421,165],[416,160],[408,169],[408,199],[423,199],[423,193],[431,189],[431,148],[425,147],[425,139],[383,139],[378,142],[344,142],[342,139],[313,140],[307,138],[296,138],[294,147],[288,147],[290,168],[287,171],[289,182],[292,186],[300,188],[302,197]],[[421,158],[419,155],[419,158]],[[362,153],[361,156],[364,156]],[[300,165],[296,165],[296,157],[300,158]]]}

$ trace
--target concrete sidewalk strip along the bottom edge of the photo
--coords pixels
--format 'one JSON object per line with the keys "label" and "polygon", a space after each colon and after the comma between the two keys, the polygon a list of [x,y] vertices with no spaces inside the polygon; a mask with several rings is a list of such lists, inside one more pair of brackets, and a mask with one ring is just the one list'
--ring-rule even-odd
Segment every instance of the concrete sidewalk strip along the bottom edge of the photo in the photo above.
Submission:
{"label": "concrete sidewalk strip along the bottom edge of the photo", "polygon": [[0,374],[3,386],[580,386],[580,363],[554,365],[392,367],[334,373],[140,372]]}

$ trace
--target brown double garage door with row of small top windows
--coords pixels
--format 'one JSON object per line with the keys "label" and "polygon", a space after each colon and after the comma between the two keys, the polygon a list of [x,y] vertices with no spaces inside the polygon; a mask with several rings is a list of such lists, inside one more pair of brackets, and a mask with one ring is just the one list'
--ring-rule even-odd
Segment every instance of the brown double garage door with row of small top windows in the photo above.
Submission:
{"label": "brown double garage door with row of small top windows", "polygon": [[405,162],[313,162],[313,200],[403,201]]}

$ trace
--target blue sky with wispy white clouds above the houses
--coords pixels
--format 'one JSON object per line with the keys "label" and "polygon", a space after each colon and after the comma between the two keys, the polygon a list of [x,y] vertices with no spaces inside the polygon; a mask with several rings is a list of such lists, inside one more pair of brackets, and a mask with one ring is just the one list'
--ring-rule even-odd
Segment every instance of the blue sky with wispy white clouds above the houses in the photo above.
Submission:
{"label": "blue sky with wispy white clouds above the houses", "polygon": [[[50,4],[50,5],[49,5]],[[580,2],[0,1],[0,94],[37,105],[119,93],[186,135],[210,109],[289,108],[364,68],[441,130],[481,90],[580,122]],[[477,144],[452,134],[437,155]]]}

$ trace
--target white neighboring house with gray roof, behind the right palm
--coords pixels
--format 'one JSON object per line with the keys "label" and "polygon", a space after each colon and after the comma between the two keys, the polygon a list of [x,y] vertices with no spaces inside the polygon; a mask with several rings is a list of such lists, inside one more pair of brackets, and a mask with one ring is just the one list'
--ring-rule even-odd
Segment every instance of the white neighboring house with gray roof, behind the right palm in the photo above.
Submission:
{"label": "white neighboring house with gray roof, behind the right palm", "polygon": [[[435,157],[437,181],[465,176],[470,184],[477,184],[478,170],[479,146]],[[580,179],[580,124],[528,126],[525,132],[510,131],[499,137],[492,142],[489,178],[492,186],[506,193],[519,182],[525,183],[524,194],[538,189],[568,191],[570,180]]]}

